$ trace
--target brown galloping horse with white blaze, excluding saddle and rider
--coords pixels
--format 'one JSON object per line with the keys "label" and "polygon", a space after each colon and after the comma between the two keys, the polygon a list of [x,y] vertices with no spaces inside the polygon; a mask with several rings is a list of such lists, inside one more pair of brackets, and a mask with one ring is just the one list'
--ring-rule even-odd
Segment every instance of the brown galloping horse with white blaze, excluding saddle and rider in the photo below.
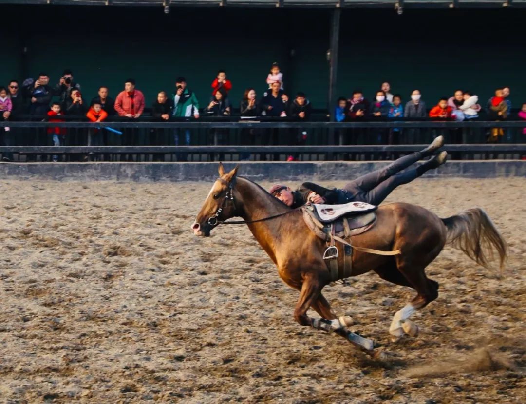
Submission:
{"label": "brown galloping horse with white blaze, excluding saddle and rider", "polygon": [[[302,326],[335,331],[351,342],[372,349],[372,341],[345,330],[346,317],[338,319],[321,294],[331,282],[323,260],[326,244],[307,227],[301,211],[289,208],[252,181],[237,176],[236,166],[226,173],[219,163],[215,181],[192,226],[195,235],[209,236],[217,224],[234,216],[243,218],[261,247],[278,268],[281,279],[300,291],[294,318]],[[493,256],[500,257],[502,270],[506,245],[491,219],[481,208],[471,208],[459,215],[441,219],[429,210],[406,203],[381,205],[375,226],[366,233],[351,237],[353,246],[378,250],[400,250],[396,256],[380,256],[352,251],[352,275],[375,271],[380,278],[396,285],[409,286],[417,296],[397,311],[389,333],[393,341],[404,333],[417,334],[409,317],[438,296],[438,282],[426,276],[425,269],[444,245],[461,249],[485,268]],[[245,222],[244,222],[245,223]],[[339,259],[343,260],[343,257]],[[342,262],[339,262],[341,265]],[[321,319],[307,316],[313,308]]]}

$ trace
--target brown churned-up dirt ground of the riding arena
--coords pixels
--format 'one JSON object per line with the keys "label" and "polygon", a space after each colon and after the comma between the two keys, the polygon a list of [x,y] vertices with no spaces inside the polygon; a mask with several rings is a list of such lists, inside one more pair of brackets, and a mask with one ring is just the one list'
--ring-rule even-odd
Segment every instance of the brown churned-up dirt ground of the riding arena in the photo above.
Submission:
{"label": "brown churned-up dirt ground of the riding arena", "polygon": [[526,402],[524,178],[391,195],[441,217],[484,208],[509,260],[499,279],[446,248],[427,269],[438,299],[397,344],[389,324],[412,289],[374,273],[324,289],[389,362],[296,324],[298,292],[246,226],[195,237],[210,186],[1,184],[0,402]]}

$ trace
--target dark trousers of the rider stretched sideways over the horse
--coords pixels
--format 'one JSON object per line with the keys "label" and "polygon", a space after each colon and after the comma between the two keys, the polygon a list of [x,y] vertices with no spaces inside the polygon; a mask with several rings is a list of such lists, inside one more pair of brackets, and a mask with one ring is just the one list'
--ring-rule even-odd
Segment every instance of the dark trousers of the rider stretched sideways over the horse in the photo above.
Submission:
{"label": "dark trousers of the rider stretched sideways over the horse", "polygon": [[386,167],[358,177],[343,189],[353,195],[353,200],[380,205],[396,187],[410,183],[423,174],[423,171],[416,167],[406,170],[421,158],[422,154],[419,151],[400,157]]}

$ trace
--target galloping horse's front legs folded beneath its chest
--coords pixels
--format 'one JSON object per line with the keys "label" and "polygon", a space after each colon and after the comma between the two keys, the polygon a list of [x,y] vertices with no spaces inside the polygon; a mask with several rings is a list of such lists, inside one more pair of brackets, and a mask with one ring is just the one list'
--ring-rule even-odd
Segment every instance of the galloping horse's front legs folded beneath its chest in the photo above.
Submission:
{"label": "galloping horse's front legs folded beneath its chest", "polygon": [[[299,300],[294,310],[294,318],[302,326],[312,326],[313,328],[323,330],[326,332],[335,331],[338,335],[352,342],[361,348],[371,351],[374,347],[373,341],[363,338],[353,332],[350,332],[343,327],[347,326],[345,318],[340,321],[332,312],[329,302],[323,295],[321,295],[321,284],[315,277],[306,277],[302,286]],[[309,307],[314,308],[322,317],[329,318],[310,318],[307,316]],[[318,311],[319,310],[319,311]]]}

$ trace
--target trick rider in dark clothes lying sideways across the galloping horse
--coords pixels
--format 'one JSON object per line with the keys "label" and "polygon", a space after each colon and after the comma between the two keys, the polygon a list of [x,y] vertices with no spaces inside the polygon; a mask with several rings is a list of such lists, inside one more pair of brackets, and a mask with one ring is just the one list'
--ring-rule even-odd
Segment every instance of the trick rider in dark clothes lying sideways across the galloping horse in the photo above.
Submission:
{"label": "trick rider in dark clothes lying sideways across the galloping horse", "polygon": [[421,158],[433,155],[443,144],[444,138],[439,136],[425,149],[403,156],[386,167],[358,177],[342,189],[328,189],[313,183],[303,183],[296,191],[293,191],[286,185],[275,184],[270,188],[269,193],[292,208],[309,202],[315,204],[346,204],[352,201],[360,201],[371,205],[380,205],[399,185],[410,183],[427,170],[446,163],[448,153],[442,151],[425,163],[406,170]]}

